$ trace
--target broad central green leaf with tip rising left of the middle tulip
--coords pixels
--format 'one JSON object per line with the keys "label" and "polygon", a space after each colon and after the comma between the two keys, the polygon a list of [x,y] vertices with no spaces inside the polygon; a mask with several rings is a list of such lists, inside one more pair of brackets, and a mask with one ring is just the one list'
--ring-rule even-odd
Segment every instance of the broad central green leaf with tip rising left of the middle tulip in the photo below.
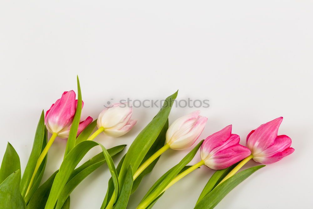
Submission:
{"label": "broad central green leaf with tip rising left of the middle tulip", "polygon": [[133,173],[136,172],[142,160],[146,156],[150,147],[159,136],[164,124],[167,121],[168,115],[171,111],[172,104],[177,97],[177,92],[167,97],[164,101],[164,105],[152,121],[138,134],[131,146],[129,147],[124,162],[119,174],[120,182],[124,181],[126,171],[129,165],[133,168]]}

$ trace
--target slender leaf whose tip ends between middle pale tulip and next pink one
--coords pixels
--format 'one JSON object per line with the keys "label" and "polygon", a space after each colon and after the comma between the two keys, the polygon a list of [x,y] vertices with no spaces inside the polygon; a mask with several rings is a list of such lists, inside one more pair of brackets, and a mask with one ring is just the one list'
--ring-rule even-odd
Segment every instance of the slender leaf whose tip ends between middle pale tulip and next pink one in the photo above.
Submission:
{"label": "slender leaf whose tip ends between middle pale tulip and next pink one", "polygon": [[177,165],[173,167],[172,171],[165,177],[160,185],[146,197],[145,200],[141,201],[140,206],[142,208],[148,207],[151,202],[153,202],[162,193],[165,187],[175,178],[175,176],[187,165],[187,163],[193,159],[202,143],[203,140],[197,144],[195,148],[193,148]]}

